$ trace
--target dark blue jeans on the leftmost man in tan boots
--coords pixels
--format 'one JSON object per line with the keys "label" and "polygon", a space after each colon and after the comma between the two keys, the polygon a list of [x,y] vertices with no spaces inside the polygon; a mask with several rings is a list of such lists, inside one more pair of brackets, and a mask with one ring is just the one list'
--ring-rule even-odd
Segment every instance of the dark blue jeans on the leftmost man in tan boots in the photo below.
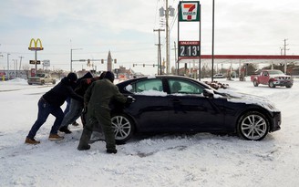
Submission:
{"label": "dark blue jeans on the leftmost man in tan boots", "polygon": [[52,106],[46,102],[45,99],[41,98],[38,100],[38,114],[35,124],[32,126],[31,130],[29,131],[27,138],[34,139],[36,136],[37,130],[46,122],[47,117],[49,114],[52,114],[56,117],[50,134],[57,134],[57,131],[61,125],[61,122],[64,118],[64,113],[60,107]]}

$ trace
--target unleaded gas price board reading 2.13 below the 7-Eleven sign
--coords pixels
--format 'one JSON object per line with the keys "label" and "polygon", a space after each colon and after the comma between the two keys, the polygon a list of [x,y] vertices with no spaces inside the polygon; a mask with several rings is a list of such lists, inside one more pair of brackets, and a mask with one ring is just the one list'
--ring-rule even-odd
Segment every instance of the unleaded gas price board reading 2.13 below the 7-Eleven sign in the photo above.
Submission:
{"label": "unleaded gas price board reading 2.13 below the 7-Eleven sign", "polygon": [[200,41],[179,41],[179,57],[200,57]]}

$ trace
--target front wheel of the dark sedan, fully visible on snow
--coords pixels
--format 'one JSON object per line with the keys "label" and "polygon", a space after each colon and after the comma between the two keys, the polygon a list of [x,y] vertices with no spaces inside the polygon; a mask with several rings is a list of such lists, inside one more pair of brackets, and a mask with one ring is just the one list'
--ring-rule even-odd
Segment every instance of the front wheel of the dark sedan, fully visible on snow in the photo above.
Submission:
{"label": "front wheel of the dark sedan, fully visible on snow", "polygon": [[263,140],[269,132],[269,121],[261,112],[246,112],[238,121],[237,132],[245,140]]}

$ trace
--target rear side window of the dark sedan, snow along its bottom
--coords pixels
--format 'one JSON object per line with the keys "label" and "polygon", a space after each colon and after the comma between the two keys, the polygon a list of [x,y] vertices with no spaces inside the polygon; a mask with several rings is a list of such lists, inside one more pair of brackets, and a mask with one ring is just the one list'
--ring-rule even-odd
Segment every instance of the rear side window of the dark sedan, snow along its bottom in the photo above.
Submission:
{"label": "rear side window of the dark sedan, snow along its bottom", "polygon": [[140,93],[149,90],[162,92],[163,91],[162,81],[160,79],[154,79],[154,78],[141,80],[139,82],[131,84],[129,91],[132,93]]}

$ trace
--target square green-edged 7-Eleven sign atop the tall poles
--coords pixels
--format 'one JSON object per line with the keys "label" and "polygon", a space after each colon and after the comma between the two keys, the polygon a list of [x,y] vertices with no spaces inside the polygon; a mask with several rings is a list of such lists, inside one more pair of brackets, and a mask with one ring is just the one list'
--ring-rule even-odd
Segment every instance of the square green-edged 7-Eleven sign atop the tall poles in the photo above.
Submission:
{"label": "square green-edged 7-Eleven sign atop the tall poles", "polygon": [[200,21],[200,2],[180,2],[179,21]]}

